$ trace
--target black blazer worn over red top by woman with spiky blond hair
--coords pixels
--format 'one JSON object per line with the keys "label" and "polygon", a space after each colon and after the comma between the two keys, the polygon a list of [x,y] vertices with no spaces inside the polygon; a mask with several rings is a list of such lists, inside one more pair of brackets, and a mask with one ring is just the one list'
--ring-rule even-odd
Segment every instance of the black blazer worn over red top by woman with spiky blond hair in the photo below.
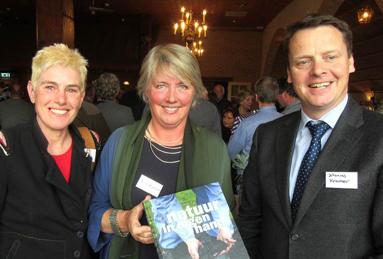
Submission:
{"label": "black blazer worn over red top by woman with spiky blond hair", "polygon": [[36,119],[3,131],[7,147],[0,150],[1,259],[90,257],[86,203],[92,191],[92,160],[77,129],[70,125],[70,130],[69,184],[47,152]]}

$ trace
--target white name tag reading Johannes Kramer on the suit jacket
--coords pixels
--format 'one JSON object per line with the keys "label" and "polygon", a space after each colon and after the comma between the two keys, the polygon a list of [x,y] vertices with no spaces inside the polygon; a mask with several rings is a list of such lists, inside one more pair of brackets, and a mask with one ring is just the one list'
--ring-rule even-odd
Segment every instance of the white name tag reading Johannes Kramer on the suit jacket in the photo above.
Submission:
{"label": "white name tag reading Johannes Kramer on the suit jacket", "polygon": [[358,189],[358,172],[326,172],[326,188]]}

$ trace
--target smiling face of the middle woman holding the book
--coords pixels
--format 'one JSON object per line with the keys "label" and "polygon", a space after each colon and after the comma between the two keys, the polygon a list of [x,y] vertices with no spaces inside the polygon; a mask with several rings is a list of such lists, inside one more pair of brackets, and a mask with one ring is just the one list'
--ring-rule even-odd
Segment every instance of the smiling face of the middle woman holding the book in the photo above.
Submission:
{"label": "smiling face of the middle woman holding the book", "polygon": [[167,76],[157,73],[145,93],[148,97],[152,122],[166,130],[185,127],[194,96],[190,82],[181,82],[170,71]]}

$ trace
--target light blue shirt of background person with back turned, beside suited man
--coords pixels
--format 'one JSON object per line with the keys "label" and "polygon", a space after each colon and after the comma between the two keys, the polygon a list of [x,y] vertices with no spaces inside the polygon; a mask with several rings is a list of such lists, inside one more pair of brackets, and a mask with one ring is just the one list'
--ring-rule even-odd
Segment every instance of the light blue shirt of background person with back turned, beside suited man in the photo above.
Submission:
{"label": "light blue shirt of background person with back turned, beside suited man", "polygon": [[230,159],[233,159],[241,151],[245,155],[249,154],[253,144],[253,135],[258,126],[279,117],[282,117],[282,114],[277,111],[275,105],[271,105],[262,107],[256,114],[239,123],[227,146]]}

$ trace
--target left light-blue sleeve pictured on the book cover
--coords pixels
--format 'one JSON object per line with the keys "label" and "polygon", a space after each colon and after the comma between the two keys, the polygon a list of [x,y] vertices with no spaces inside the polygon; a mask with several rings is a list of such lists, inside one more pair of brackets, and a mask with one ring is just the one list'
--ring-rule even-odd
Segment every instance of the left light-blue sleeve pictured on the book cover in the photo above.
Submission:
{"label": "left light-blue sleeve pictured on the book cover", "polygon": [[[181,242],[186,242],[194,237],[194,232],[185,221],[169,220],[168,214],[183,210],[175,194],[170,194],[155,199],[152,203],[154,222],[160,233],[160,245],[165,249],[173,249]],[[173,230],[174,229],[174,230]]]}

